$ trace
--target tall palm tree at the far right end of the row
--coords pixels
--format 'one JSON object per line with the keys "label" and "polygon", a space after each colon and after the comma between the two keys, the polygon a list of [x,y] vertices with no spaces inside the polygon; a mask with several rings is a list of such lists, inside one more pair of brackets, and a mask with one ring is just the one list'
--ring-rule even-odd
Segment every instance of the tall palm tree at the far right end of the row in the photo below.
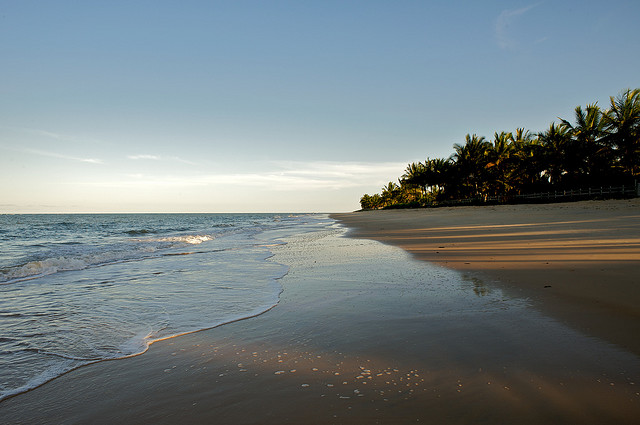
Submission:
{"label": "tall palm tree at the far right end of the row", "polygon": [[640,89],[627,89],[610,98],[604,115],[604,141],[614,150],[625,174],[640,175]]}

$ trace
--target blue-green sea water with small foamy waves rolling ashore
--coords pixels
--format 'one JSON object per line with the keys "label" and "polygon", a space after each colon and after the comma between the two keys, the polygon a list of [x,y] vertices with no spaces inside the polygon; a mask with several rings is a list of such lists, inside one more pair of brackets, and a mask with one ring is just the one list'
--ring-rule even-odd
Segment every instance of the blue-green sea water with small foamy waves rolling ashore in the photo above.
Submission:
{"label": "blue-green sea water with small foamy waves rolling ashore", "polygon": [[326,215],[0,215],[0,400],[155,340],[263,313],[281,237]]}

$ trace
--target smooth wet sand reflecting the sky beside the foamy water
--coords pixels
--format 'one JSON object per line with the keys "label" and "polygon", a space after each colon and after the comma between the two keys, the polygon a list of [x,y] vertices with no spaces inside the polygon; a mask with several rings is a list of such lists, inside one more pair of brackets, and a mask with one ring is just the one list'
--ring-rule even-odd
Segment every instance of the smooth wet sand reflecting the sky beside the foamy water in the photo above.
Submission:
{"label": "smooth wet sand reflecting the sky beside the foamy water", "polygon": [[[633,424],[640,358],[340,229],[275,249],[267,313],[72,371],[3,423]],[[636,385],[638,384],[638,385]]]}

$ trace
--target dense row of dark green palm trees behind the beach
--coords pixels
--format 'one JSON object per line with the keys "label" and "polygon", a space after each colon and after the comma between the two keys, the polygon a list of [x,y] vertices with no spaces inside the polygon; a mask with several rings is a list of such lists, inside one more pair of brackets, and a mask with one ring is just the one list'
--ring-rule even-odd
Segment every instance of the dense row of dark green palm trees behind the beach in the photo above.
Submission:
{"label": "dense row of dark green palm trees behind the beach", "polygon": [[508,202],[515,195],[611,184],[640,176],[640,89],[575,108],[573,122],[559,118],[532,133],[496,132],[492,140],[467,134],[449,158],[408,164],[398,183],[365,194],[363,209],[426,207],[459,200]]}

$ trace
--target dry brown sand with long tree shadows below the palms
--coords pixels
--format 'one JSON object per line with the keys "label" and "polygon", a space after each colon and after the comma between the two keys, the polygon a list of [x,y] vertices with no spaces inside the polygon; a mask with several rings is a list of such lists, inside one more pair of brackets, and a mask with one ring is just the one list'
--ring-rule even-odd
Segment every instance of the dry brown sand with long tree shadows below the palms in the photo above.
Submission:
{"label": "dry brown sand with long tree shadows below the palms", "polygon": [[332,214],[640,355],[640,199]]}

